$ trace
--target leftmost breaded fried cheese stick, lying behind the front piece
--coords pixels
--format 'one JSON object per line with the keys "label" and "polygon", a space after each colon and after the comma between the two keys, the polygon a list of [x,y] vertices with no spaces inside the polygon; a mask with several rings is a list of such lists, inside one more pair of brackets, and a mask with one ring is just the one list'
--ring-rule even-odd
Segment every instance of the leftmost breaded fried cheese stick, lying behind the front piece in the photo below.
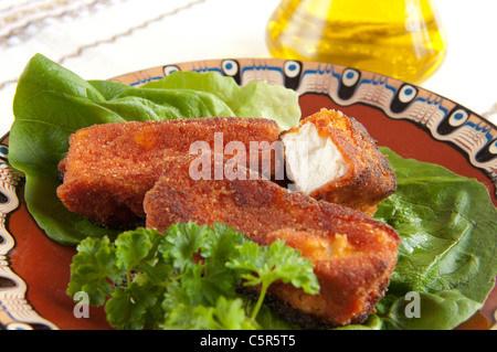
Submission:
{"label": "leftmost breaded fried cheese stick, lying behind the front piece", "polygon": [[277,141],[278,132],[273,120],[236,117],[95,125],[71,136],[59,166],[57,195],[70,211],[96,224],[133,227],[144,222],[144,196],[160,175],[165,150],[198,153],[231,141],[248,150],[251,142]]}

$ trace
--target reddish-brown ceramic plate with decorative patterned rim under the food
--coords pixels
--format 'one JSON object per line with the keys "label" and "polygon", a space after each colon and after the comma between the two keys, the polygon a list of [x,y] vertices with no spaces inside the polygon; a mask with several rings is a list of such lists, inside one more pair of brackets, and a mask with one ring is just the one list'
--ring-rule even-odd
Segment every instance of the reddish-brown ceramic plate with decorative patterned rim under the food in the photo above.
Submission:
{"label": "reddish-brown ceramic plate with decorative patterned rim under the food", "polygon": [[[404,158],[442,164],[476,178],[497,205],[497,128],[445,97],[417,86],[349,67],[273,58],[213,60],[152,67],[113,81],[141,85],[175,71],[216,72],[239,84],[267,81],[299,94],[303,116],[336,108],[356,117],[379,145]],[[74,248],[50,241],[23,201],[23,179],[0,149],[0,328],[108,329],[102,309],[77,319],[65,294]],[[495,324],[497,290],[463,328]]]}

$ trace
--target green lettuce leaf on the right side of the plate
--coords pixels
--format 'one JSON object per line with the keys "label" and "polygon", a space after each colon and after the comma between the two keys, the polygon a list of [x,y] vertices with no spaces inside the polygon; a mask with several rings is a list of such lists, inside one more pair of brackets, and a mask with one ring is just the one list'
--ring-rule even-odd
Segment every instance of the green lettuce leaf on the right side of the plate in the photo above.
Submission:
{"label": "green lettuce leaf on the right side of the plate", "polygon": [[[495,285],[497,210],[478,181],[382,151],[399,188],[374,216],[392,225],[402,244],[376,327],[453,329],[483,307]],[[419,318],[406,313],[414,302],[409,292],[419,295]]]}

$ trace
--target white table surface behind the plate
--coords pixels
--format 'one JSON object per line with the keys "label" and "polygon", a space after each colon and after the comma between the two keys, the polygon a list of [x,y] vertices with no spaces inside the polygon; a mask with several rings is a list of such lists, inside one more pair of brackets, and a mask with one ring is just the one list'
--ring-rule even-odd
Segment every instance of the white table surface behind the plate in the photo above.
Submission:
{"label": "white table surface behind the plate", "polygon": [[[279,0],[0,0],[0,134],[17,79],[35,53],[85,79],[208,58],[271,57],[266,23]],[[448,38],[421,87],[497,124],[495,0],[434,1]]]}

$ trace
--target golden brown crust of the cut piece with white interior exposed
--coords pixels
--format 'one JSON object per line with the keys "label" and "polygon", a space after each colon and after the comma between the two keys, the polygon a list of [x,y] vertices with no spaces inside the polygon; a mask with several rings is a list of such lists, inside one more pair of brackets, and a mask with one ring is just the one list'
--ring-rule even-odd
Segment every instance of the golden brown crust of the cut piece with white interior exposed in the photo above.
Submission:
{"label": "golden brown crust of the cut piece with white interior exposed", "polygon": [[374,214],[377,204],[396,190],[395,174],[376,140],[355,118],[327,109],[306,117],[299,127],[282,135],[298,132],[307,122],[316,126],[319,136],[330,138],[349,164],[343,177],[314,190],[309,195]]}

